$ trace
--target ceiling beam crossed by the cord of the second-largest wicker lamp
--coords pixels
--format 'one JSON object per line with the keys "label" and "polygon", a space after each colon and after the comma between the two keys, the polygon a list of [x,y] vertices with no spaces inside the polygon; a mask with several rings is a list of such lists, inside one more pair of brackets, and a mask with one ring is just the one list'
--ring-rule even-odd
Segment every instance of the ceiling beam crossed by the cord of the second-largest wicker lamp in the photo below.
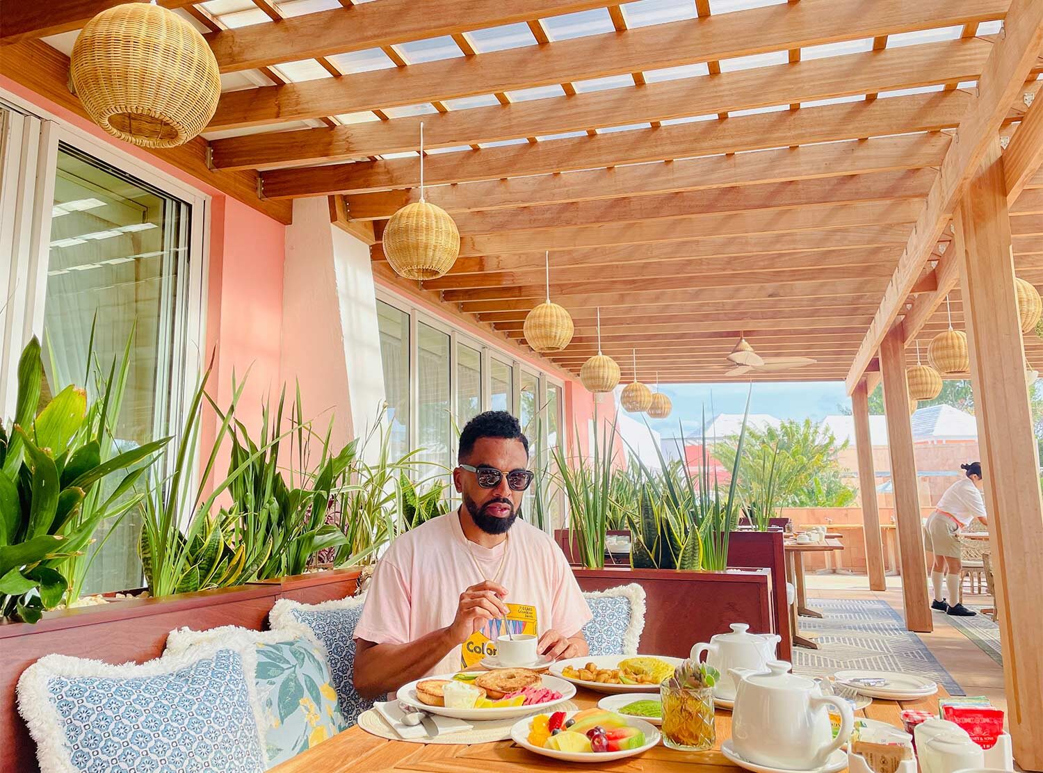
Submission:
{"label": "ceiling beam crossed by the cord of the second-largest wicker lamp", "polygon": [[[858,134],[935,131],[959,124],[970,99],[970,95],[959,90],[917,94],[869,103],[848,102],[732,117],[727,121],[701,121],[536,145],[443,153],[427,160],[425,178],[428,185],[465,183],[832,142],[855,139],[853,136]],[[415,159],[394,159],[276,169],[264,172],[262,180],[264,195],[268,198],[365,193],[417,187],[419,165]]]}

